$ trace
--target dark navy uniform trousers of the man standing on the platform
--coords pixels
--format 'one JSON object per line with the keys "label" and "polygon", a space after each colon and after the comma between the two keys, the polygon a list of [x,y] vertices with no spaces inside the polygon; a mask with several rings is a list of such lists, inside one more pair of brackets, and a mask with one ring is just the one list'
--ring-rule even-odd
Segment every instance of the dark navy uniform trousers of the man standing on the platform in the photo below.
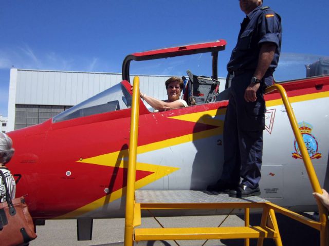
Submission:
{"label": "dark navy uniform trousers of the man standing on the platform", "polygon": [[265,129],[264,90],[272,84],[272,74],[262,79],[257,100],[244,99],[254,71],[232,79],[229,104],[224,123],[224,166],[221,180],[237,186],[241,183],[254,189],[261,179],[263,130]]}

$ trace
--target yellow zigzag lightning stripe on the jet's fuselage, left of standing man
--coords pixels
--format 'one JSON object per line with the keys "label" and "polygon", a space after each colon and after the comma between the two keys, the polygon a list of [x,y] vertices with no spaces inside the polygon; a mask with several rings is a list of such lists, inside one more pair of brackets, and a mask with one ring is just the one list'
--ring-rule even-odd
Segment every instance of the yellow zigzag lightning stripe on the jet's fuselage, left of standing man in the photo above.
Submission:
{"label": "yellow zigzag lightning stripe on the jet's fuselage, left of standing man", "polygon": [[[185,121],[192,121],[192,122],[199,122],[200,117],[204,115],[208,115],[209,117],[203,117],[203,124],[208,124],[212,126],[217,126],[217,128],[193,133],[193,134],[187,134],[184,136],[179,136],[171,139],[166,139],[163,141],[154,142],[152,144],[144,145],[144,146],[138,146],[137,147],[137,154],[142,154],[146,152],[151,152],[154,150],[159,150],[179,144],[184,144],[185,142],[194,141],[197,139],[207,138],[214,136],[216,134],[222,134],[223,133],[223,120],[216,120],[212,117],[215,116],[218,113],[225,113],[225,110],[211,110],[211,111],[204,111],[199,113],[192,113],[192,114],[186,114],[186,115],[180,115],[177,117],[171,117],[176,118],[180,120]],[[218,128],[220,127],[220,128]],[[89,163],[94,165],[102,165],[102,166],[108,166],[108,167],[116,167],[116,168],[127,168],[128,161],[124,160],[125,157],[128,156],[128,150],[121,150],[116,151],[113,153],[108,153],[104,155],[94,156],[90,158],[86,158],[83,160],[78,160],[77,162],[83,162],[83,163]],[[136,170],[140,171],[148,171],[153,172],[152,174],[148,175],[147,177],[144,177],[138,181],[135,182],[135,188],[139,189],[141,187],[147,186],[149,183],[152,183],[156,181],[157,179],[160,179],[166,175],[169,175],[175,171],[177,171],[179,168],[175,167],[166,167],[166,166],[159,166],[159,165],[153,165],[149,163],[136,163]],[[90,212],[92,210],[98,209],[104,204],[110,203],[114,200],[117,200],[124,196],[126,193],[126,188],[123,187],[122,189],[119,189],[117,191],[112,192],[111,194],[108,194],[106,196],[103,196],[91,203],[86,204],[85,206],[74,210],[70,213],[67,213],[65,215],[59,216],[56,219],[65,219],[65,218],[72,218],[72,217],[78,217],[84,213]]]}

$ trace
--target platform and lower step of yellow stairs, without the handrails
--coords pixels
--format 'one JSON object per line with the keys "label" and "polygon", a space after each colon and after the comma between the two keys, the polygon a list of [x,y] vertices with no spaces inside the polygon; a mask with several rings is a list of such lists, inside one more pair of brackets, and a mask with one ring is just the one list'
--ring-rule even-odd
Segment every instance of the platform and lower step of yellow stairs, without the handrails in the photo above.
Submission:
{"label": "platform and lower step of yellow stairs, without the handrails", "polygon": [[[267,209],[270,202],[257,196],[232,198],[227,194],[207,191],[136,191],[135,194],[135,241],[232,238],[273,238],[281,241],[275,215]],[[271,223],[264,223],[260,227],[249,227],[249,224],[245,224],[245,227],[224,228],[136,228],[141,221],[140,210],[228,208],[265,208],[264,219],[269,218]],[[245,215],[249,217],[249,212]]]}

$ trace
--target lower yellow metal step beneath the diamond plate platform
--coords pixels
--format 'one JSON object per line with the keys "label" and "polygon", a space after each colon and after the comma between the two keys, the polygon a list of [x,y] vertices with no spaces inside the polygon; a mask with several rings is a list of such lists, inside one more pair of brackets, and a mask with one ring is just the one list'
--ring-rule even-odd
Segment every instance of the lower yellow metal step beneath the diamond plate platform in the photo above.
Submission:
{"label": "lower yellow metal step beneath the diamond plate platform", "polygon": [[134,240],[198,240],[198,239],[241,239],[277,238],[278,233],[261,227],[220,228],[142,228],[135,229]]}

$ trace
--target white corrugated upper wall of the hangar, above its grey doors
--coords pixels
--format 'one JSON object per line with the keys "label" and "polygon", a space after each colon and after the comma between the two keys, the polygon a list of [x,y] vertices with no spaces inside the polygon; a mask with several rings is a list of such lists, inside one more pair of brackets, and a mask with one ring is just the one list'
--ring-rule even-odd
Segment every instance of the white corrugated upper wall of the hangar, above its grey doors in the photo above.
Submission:
{"label": "white corrugated upper wall of the hangar, above its grey doors", "polygon": [[[166,99],[170,76],[139,75],[140,90]],[[131,76],[133,81],[134,76]],[[74,106],[122,81],[119,73],[92,73],[17,69],[15,104]]]}

